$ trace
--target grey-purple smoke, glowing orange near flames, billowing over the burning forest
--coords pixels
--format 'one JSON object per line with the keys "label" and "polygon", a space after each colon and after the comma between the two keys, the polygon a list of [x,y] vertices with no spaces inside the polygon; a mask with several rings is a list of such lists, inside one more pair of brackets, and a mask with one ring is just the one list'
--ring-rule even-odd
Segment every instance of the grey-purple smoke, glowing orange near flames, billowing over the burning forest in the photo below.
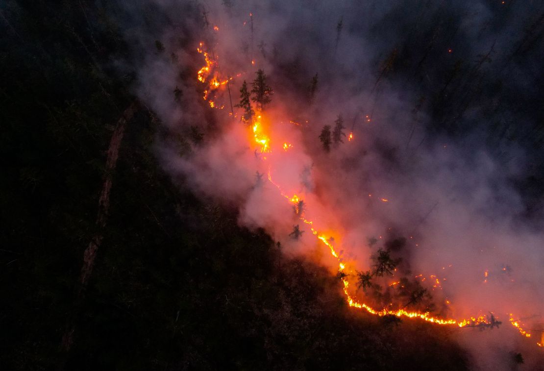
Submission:
{"label": "grey-purple smoke, glowing orange near flames, billowing over the burning forest", "polygon": [[[335,273],[286,200],[296,194],[348,271],[370,269],[370,256],[390,248],[403,259],[395,277],[426,277],[441,316],[496,314],[500,330],[459,330],[475,367],[510,369],[520,349],[538,357],[541,332],[529,342],[508,314],[543,329],[543,4],[157,0],[123,12],[135,93],[168,127],[157,152],[173,177]],[[202,98],[200,41],[218,78],[232,77],[230,96],[222,85]],[[258,151],[240,109],[229,115],[257,69],[274,89],[262,123],[270,153]],[[339,114],[354,138],[325,153],[318,136]]]}

